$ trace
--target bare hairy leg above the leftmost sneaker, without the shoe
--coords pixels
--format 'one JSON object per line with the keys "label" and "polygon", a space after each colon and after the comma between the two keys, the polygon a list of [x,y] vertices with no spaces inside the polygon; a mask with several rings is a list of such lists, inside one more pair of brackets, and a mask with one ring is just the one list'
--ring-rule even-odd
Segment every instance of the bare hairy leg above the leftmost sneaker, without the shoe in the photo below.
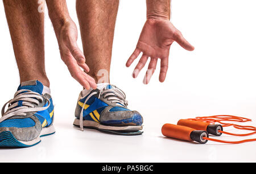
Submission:
{"label": "bare hairy leg above the leftmost sneaker, without the shoe", "polygon": [[41,81],[49,87],[44,69],[44,13],[37,0],[3,0],[20,82]]}

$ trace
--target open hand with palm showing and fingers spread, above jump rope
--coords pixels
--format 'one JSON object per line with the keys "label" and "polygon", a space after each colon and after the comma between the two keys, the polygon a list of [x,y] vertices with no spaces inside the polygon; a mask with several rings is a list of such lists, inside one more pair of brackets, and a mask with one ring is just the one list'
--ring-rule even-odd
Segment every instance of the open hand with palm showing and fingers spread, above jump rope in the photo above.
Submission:
{"label": "open hand with palm showing and fingers spread, above jump rope", "polygon": [[148,70],[143,80],[144,84],[148,84],[156,69],[156,63],[159,58],[161,59],[159,81],[163,82],[168,69],[170,47],[174,41],[188,51],[193,51],[194,49],[194,47],[183,38],[181,32],[174,27],[170,20],[147,19],[142,29],[141,36],[139,37],[137,47],[127,60],[126,67],[130,67],[133,61],[139,56],[139,53],[143,52],[133,72],[133,77],[136,78],[146,64],[148,57],[150,57]]}

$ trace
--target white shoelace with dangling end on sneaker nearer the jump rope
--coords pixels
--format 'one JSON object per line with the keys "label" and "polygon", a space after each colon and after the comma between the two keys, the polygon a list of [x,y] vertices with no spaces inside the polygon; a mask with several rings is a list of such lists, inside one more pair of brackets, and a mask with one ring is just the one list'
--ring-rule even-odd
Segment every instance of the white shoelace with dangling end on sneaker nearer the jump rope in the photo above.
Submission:
{"label": "white shoelace with dangling end on sneaker nearer the jump rope", "polygon": [[[100,93],[98,94],[98,98],[103,96],[104,98],[108,98],[108,100],[111,101],[112,103],[113,102],[121,103],[122,106],[127,107],[128,101],[125,100],[125,98],[126,98],[125,93],[121,89],[119,89],[115,86],[114,86],[115,88],[112,88],[112,89],[105,89],[106,86],[100,90]],[[89,96],[86,98],[86,100],[84,102],[84,105],[82,105],[82,110],[80,112],[80,120],[79,120],[80,129],[82,131],[84,131],[84,125],[83,125],[83,122],[82,122],[83,117],[84,117],[84,106],[85,106],[86,102],[89,100],[89,98],[92,97],[94,94],[97,94],[97,93],[98,92],[90,93]]]}

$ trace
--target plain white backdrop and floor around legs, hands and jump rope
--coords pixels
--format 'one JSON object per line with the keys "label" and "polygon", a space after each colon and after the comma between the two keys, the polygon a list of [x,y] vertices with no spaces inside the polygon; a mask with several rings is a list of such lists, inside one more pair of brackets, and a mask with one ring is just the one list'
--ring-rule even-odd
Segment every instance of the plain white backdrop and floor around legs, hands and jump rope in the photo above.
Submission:
{"label": "plain white backdrop and floor around legs, hands and jump rope", "polygon": [[[129,108],[143,115],[144,134],[140,136],[109,135],[96,130],[82,132],[72,126],[82,88],[60,59],[46,11],[46,72],[56,105],[56,134],[42,138],[41,143],[31,148],[1,148],[0,161],[256,161],[255,142],[195,144],[164,138],[161,134],[164,123],[215,114],[251,118],[253,122],[247,125],[255,125],[255,6],[255,1],[249,0],[173,1],[171,22],[195,46],[195,51],[188,52],[177,43],[172,44],[166,81],[158,81],[157,69],[150,84],[144,85],[146,69],[134,80],[131,73],[135,64],[126,68],[125,63],[145,22],[146,3],[121,0],[110,81],[126,93]],[[78,24],[75,1],[68,1],[68,9]],[[19,76],[2,2],[0,23],[0,103],[3,105],[13,98]],[[80,35],[78,43],[82,48]],[[225,130],[232,131],[232,128]],[[223,135],[222,139],[243,138]]]}

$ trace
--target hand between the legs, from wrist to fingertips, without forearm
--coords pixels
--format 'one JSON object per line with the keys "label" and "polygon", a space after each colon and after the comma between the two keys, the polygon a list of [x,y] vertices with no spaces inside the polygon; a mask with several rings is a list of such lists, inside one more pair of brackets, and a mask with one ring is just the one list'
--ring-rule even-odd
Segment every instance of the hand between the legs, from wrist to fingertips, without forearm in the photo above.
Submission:
{"label": "hand between the legs, from wrist to fingertips, without forearm", "polygon": [[[60,28],[59,36],[60,56],[67,65],[71,76],[75,78],[85,89],[97,88],[94,78],[85,72],[89,72],[88,65],[85,64],[85,57],[77,45],[77,28],[72,20],[65,21]],[[84,69],[84,71],[81,69]]]}

